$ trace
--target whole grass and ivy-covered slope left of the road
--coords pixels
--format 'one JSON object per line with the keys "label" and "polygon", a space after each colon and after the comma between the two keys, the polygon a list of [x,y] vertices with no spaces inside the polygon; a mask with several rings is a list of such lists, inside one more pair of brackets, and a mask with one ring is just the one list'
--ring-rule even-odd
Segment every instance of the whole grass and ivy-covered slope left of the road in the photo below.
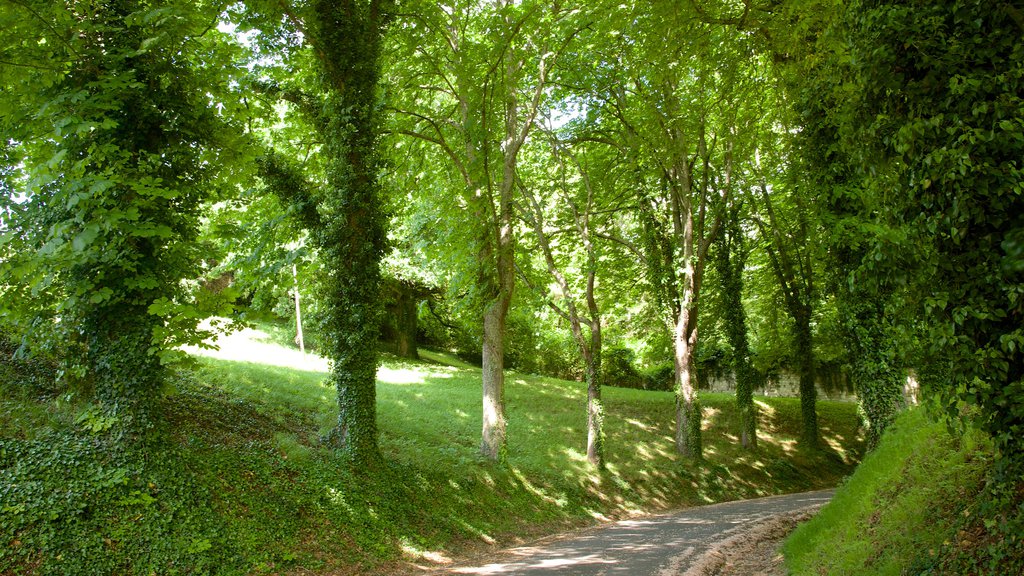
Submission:
{"label": "whole grass and ivy-covered slope left of the road", "polygon": [[[272,349],[262,360],[274,360]],[[43,454],[58,441],[95,445],[101,433],[82,431],[88,418],[76,422],[85,407],[8,395],[0,470],[25,505],[13,521],[0,518],[0,539],[11,544],[0,573],[437,565],[595,519],[834,485],[861,446],[853,405],[820,403],[831,449],[807,454],[795,445],[799,402],[759,399],[761,448],[748,453],[735,444],[732,399],[706,395],[708,459],[681,461],[672,395],[608,387],[608,469],[598,472],[584,457],[584,386],[510,373],[509,455],[493,465],[476,454],[479,377],[470,367],[388,359],[378,385],[388,463],[356,471],[318,447],[336,415],[318,369],[201,359],[166,401],[170,442],[116,457],[86,448],[58,451],[59,461]],[[54,485],[67,462],[74,481]],[[67,493],[63,504],[40,496],[47,486]]]}

